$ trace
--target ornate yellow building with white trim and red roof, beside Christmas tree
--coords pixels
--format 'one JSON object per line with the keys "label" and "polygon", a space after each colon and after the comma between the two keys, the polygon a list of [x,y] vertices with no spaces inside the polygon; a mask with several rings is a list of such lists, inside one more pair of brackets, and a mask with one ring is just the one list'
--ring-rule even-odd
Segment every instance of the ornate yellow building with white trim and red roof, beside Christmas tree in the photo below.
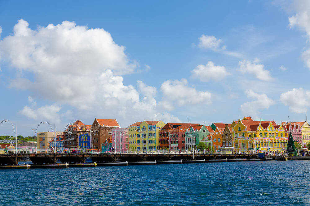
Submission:
{"label": "ornate yellow building with white trim and red roof, beside Christmas tree", "polygon": [[239,119],[232,127],[232,135],[236,152],[283,152],[288,142],[284,128],[275,121]]}

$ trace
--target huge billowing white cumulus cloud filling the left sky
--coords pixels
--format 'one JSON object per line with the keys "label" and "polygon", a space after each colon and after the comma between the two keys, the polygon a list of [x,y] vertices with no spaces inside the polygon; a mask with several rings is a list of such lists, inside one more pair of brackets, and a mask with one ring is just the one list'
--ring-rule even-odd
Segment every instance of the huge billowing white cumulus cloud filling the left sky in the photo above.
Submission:
{"label": "huge billowing white cumulus cloud filling the left sky", "polygon": [[[13,35],[0,42],[0,52],[5,61],[21,71],[19,78],[12,79],[11,88],[30,90],[36,97],[60,106],[68,104],[80,115],[108,118],[107,114],[113,113],[125,125],[131,123],[129,120],[178,120],[157,108],[153,87],[143,82],[138,82],[139,89],[124,85],[120,75],[133,73],[138,63],[131,61],[125,47],[116,44],[102,28],[64,21],[32,30],[20,19]],[[33,78],[23,76],[23,71],[32,73]],[[47,107],[55,114],[58,107],[52,108]],[[30,116],[32,111],[26,106],[22,114]]]}

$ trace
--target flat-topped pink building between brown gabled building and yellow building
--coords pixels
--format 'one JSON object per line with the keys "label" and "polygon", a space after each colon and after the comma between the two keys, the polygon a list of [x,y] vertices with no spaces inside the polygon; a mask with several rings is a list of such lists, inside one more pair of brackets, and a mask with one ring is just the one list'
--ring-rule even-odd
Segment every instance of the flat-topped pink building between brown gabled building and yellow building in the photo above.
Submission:
{"label": "flat-topped pink building between brown gabled building and yellow building", "polygon": [[128,150],[128,128],[113,128],[112,132],[112,147],[116,151]]}

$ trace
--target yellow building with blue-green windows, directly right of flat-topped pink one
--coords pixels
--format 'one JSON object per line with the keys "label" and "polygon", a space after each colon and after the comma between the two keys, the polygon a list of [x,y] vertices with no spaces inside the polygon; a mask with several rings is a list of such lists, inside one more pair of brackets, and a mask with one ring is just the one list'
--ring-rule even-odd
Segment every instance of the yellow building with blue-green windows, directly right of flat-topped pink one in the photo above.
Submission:
{"label": "yellow building with blue-green windows, directly right of flat-topped pink one", "polygon": [[128,127],[130,150],[149,151],[159,149],[159,130],[165,126],[161,120],[136,122]]}

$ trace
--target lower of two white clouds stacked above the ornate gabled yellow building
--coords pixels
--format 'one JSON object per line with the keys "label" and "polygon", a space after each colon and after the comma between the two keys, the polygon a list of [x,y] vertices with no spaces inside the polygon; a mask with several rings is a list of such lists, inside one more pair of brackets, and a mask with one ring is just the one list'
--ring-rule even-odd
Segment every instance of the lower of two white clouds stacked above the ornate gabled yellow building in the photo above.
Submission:
{"label": "lower of two white clouds stacked above the ornate gabled yellow building", "polygon": [[268,98],[266,94],[257,94],[253,90],[245,90],[246,96],[254,99],[251,102],[245,102],[241,105],[241,111],[244,115],[251,115],[258,119],[259,110],[268,109],[275,102]]}

